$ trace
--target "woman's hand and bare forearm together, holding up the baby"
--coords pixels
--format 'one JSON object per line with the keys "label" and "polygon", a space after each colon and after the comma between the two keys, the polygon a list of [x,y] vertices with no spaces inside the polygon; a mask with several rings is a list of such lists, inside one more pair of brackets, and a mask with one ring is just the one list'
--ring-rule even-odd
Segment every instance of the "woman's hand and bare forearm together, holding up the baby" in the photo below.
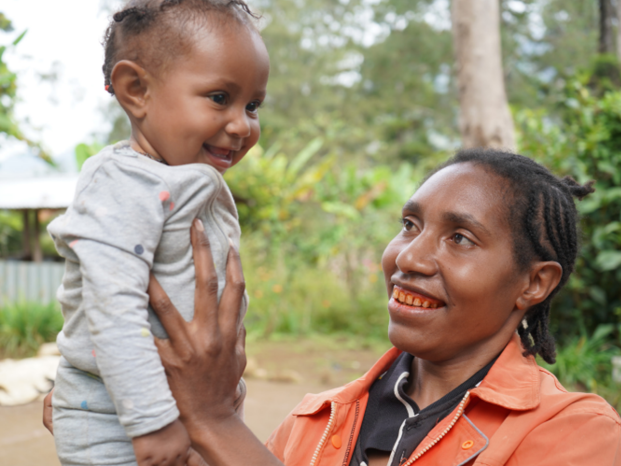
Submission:
{"label": "woman's hand and bare forearm together, holding up the baby", "polygon": [[148,288],[151,306],[170,337],[156,340],[156,345],[181,421],[193,449],[210,466],[282,466],[233,406],[246,366],[246,331],[239,322],[245,290],[239,254],[231,245],[227,283],[218,303],[217,275],[200,221],[194,221],[190,235],[196,269],[193,321],[184,321],[155,277]]}

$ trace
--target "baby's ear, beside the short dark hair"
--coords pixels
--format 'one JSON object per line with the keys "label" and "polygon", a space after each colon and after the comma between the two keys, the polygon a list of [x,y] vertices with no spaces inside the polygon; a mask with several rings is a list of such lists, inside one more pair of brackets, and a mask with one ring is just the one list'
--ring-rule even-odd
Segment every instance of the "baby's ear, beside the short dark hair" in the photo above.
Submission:
{"label": "baby's ear, beside the short dark hair", "polygon": [[141,120],[147,114],[149,79],[147,71],[130,60],[121,60],[112,69],[114,95],[129,116]]}

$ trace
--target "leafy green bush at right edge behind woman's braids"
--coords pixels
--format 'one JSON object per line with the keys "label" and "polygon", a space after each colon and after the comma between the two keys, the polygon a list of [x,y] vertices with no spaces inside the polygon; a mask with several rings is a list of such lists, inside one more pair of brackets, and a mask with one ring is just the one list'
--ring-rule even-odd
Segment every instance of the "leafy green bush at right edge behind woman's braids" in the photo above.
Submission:
{"label": "leafy green bush at right edge behind woman's braids", "polygon": [[561,340],[621,321],[621,93],[601,98],[573,80],[560,103],[560,121],[546,112],[522,111],[516,121],[525,155],[581,183],[595,180],[596,192],[578,202],[582,248],[576,272],[556,298],[553,322]]}

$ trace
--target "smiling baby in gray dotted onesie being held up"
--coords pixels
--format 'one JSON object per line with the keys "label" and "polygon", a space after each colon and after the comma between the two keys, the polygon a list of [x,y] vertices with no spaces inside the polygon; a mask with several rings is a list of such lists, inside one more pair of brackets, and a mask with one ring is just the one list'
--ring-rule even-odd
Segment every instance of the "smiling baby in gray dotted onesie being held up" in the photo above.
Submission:
{"label": "smiling baby in gray dotted onesie being held up", "polygon": [[186,464],[146,291],[153,272],[193,317],[194,219],[224,288],[240,228],[222,173],[259,139],[270,69],[253,19],[238,0],[132,0],[107,30],[106,89],[132,135],[84,163],[73,204],[48,227],[66,259],[53,394],[63,465]]}

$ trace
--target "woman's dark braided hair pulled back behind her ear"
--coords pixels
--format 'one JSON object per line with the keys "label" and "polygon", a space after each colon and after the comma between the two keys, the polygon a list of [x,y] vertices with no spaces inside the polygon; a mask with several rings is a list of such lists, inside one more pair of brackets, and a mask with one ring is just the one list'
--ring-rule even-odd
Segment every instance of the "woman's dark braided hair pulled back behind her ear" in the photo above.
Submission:
{"label": "woman's dark braided hair pulled back behind her ear", "polygon": [[528,157],[497,149],[460,150],[434,171],[456,163],[472,163],[509,181],[507,219],[514,237],[514,257],[519,270],[535,260],[556,261],[563,267],[561,280],[542,303],[528,309],[517,329],[524,355],[539,354],[554,363],[556,347],[550,334],[550,302],[569,280],[579,249],[579,216],[574,198],[592,193],[593,181],[580,185],[571,176],[559,178]]}

